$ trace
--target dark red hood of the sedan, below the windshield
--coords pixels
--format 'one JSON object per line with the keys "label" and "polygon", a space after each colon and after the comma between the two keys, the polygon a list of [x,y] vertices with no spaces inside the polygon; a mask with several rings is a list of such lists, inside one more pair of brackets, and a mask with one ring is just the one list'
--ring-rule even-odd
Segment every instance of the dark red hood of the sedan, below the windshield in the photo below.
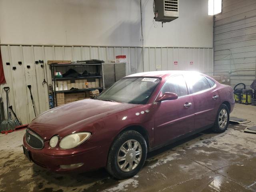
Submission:
{"label": "dark red hood of the sedan, below the windshield", "polygon": [[90,123],[136,106],[138,104],[84,99],[44,112],[34,119],[28,128],[39,134],[44,140],[49,140],[53,135],[65,136],[81,131],[81,128]]}

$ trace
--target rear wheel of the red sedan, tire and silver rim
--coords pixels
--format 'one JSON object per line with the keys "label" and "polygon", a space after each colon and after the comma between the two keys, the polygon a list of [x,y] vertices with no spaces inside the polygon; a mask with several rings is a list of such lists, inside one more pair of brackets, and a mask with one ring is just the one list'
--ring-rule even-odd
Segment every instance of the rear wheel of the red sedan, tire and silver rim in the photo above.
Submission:
{"label": "rear wheel of the red sedan, tire and silver rim", "polygon": [[[226,115],[225,115],[226,114]],[[216,133],[223,133],[227,130],[229,124],[229,109],[225,104],[221,104],[218,109],[214,126],[212,131]]]}

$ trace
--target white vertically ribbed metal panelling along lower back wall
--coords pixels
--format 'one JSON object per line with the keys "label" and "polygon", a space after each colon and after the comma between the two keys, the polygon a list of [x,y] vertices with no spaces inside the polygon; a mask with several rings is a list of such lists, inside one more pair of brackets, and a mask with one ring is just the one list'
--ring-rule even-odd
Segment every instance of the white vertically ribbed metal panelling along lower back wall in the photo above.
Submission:
{"label": "white vertically ribbed metal panelling along lower back wall", "polygon": [[[154,70],[197,70],[213,73],[212,48],[144,48],[144,66],[141,47],[96,47],[96,46],[42,46],[1,45],[4,74],[7,84],[0,86],[0,94],[6,104],[4,86],[10,87],[9,100],[23,123],[34,118],[34,111],[27,85],[32,86],[36,113],[48,110],[48,91],[44,80],[44,69],[35,61],[101,59],[112,62],[116,55],[126,55],[126,73],[133,74]],[[177,61],[178,64],[174,64]],[[9,62],[10,65],[6,65]],[[22,64],[18,64],[22,62]],[[192,62],[192,63],[191,63]],[[30,68],[28,68],[30,66]],[[12,67],[16,67],[13,70]],[[45,68],[46,80],[51,83],[50,68]],[[4,106],[6,111],[6,106]]]}

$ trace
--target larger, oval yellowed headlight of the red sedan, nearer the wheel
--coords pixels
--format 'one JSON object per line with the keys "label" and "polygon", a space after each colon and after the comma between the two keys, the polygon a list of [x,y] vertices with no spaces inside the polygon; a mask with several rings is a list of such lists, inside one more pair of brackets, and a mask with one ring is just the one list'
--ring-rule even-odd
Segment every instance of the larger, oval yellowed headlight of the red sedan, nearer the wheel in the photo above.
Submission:
{"label": "larger, oval yellowed headlight of the red sedan, nearer the wheel", "polygon": [[85,142],[89,137],[90,137],[89,132],[79,132],[79,133],[74,133],[70,134],[66,137],[64,137],[60,141],[60,148],[62,149],[72,149],[75,148],[76,146],[82,144]]}

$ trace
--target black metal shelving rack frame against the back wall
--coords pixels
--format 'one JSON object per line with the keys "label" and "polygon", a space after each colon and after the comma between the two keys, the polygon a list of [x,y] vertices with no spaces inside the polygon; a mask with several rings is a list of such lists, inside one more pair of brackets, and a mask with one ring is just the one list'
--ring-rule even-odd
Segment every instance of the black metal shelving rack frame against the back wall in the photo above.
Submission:
{"label": "black metal shelving rack frame against the back wall", "polygon": [[[84,77],[63,77],[63,78],[55,78],[54,74],[56,71],[56,67],[81,67],[81,66],[97,66],[97,71],[99,72],[100,75],[97,76],[84,76]],[[100,92],[104,88],[104,73],[103,73],[103,65],[102,63],[97,63],[97,64],[86,64],[86,63],[71,63],[71,64],[50,64],[51,68],[51,75],[52,75],[52,82],[53,82],[53,87],[52,87],[52,96],[53,96],[53,106],[57,106],[57,100],[56,100],[56,93],[76,93],[76,92],[85,92],[85,91],[90,91],[90,90],[95,90],[98,89]],[[100,85],[101,87],[96,87],[96,88],[85,88],[85,89],[75,89],[75,90],[60,90],[56,91],[56,81],[63,81],[63,80],[82,80],[82,79],[90,79],[90,78],[100,78]]]}

